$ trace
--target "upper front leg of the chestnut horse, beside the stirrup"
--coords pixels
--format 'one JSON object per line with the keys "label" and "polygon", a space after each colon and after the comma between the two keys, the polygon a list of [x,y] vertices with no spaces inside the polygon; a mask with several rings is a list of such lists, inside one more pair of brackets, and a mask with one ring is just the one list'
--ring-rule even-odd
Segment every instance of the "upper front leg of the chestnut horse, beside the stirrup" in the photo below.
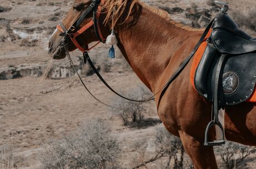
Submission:
{"label": "upper front leg of the chestnut horse, beside the stirrup", "polygon": [[179,131],[183,146],[196,169],[218,169],[213,147],[204,146],[193,136]]}

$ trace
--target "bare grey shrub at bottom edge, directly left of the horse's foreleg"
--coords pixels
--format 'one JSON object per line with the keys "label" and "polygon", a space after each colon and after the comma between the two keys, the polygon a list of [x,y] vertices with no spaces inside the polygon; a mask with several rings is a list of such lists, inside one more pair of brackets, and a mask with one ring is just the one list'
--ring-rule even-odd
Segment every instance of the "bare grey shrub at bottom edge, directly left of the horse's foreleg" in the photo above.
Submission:
{"label": "bare grey shrub at bottom edge, directly left of the horse's foreleg", "polygon": [[[185,154],[184,147],[178,137],[170,134],[163,126],[156,127],[156,135],[151,142],[142,140],[135,144],[135,150],[139,153],[137,165],[134,168],[142,167],[148,163],[160,160],[161,169],[173,168],[193,168],[189,157]],[[154,153],[150,153],[150,157],[146,156],[147,147],[151,145],[154,148]],[[152,155],[154,154],[154,155]],[[173,163],[171,165],[171,160]]]}

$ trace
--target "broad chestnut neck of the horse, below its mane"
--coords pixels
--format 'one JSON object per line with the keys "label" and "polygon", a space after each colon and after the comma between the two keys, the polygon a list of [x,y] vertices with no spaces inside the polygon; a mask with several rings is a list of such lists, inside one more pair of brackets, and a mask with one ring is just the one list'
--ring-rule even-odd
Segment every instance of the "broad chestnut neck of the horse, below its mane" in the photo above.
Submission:
{"label": "broad chestnut neck of the horse, below its mane", "polygon": [[188,42],[186,35],[190,34],[191,30],[184,29],[147,8],[142,8],[136,24],[129,29],[122,25],[117,27],[121,53],[151,91],[155,91],[157,80],[163,76],[178,48]]}

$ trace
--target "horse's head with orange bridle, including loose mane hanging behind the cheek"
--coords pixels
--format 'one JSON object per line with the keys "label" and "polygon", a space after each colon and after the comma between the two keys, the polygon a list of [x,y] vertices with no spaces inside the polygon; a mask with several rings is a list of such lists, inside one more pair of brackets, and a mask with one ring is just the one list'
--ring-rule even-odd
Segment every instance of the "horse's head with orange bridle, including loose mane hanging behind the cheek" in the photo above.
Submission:
{"label": "horse's head with orange bridle, including loose mane hanging behind the cheek", "polygon": [[85,52],[91,42],[104,42],[114,27],[131,27],[137,22],[141,12],[141,6],[136,2],[75,0],[67,16],[53,32],[48,53],[53,59],[63,59],[67,52],[77,48]]}

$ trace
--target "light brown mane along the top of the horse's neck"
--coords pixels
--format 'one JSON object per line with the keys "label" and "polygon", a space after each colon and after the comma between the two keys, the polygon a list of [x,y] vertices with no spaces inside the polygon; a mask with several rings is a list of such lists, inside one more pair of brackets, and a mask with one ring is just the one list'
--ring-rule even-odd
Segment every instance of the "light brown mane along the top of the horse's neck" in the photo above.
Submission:
{"label": "light brown mane along the top of the horse's neck", "polygon": [[[106,18],[104,23],[105,24],[111,23],[110,24],[111,28],[114,28],[116,24],[124,24],[125,21],[127,21],[127,19],[129,18],[132,12],[132,8],[134,8],[136,4],[139,4],[142,8],[148,9],[152,13],[157,14],[157,16],[165,19],[170,24],[173,24],[176,27],[183,28],[185,30],[194,30],[194,31],[200,30],[200,29],[184,26],[183,24],[175,22],[173,21],[173,19],[170,18],[168,12],[164,11],[163,9],[157,9],[157,8],[148,6],[144,2],[141,2],[140,0],[107,0],[103,6],[103,9],[105,9],[105,13],[106,13]],[[124,12],[127,12],[127,13],[125,13],[125,18],[122,18],[124,17],[123,16]],[[121,22],[119,23],[120,19],[121,19]]]}

